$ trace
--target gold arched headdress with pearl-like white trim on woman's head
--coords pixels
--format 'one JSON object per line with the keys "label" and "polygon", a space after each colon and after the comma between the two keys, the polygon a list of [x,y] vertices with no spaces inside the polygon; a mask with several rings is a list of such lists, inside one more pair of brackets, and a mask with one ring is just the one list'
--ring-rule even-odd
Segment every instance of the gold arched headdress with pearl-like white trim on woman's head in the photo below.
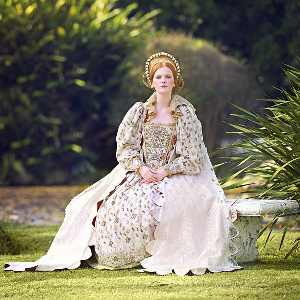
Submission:
{"label": "gold arched headdress with pearl-like white trim on woman's head", "polygon": [[183,79],[180,75],[180,68],[179,68],[177,60],[175,59],[175,57],[173,55],[171,55],[167,52],[155,53],[147,59],[146,72],[143,76],[144,84],[147,87],[149,87],[150,89],[154,90],[154,88],[151,87],[150,75],[151,75],[152,68],[160,62],[168,62],[174,67],[175,72],[176,72],[176,80],[175,80],[176,85],[173,89],[173,93],[177,94],[183,87]]}

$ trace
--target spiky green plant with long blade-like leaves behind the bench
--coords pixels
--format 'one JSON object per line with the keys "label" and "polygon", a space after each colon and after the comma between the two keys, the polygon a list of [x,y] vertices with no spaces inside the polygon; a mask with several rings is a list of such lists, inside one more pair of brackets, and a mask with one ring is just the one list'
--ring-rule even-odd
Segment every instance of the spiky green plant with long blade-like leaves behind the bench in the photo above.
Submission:
{"label": "spiky green plant with long blade-like leaves behind the bench", "polygon": [[[300,65],[299,57],[297,57],[297,63]],[[255,195],[255,198],[300,202],[300,70],[289,65],[285,66],[287,68],[283,71],[290,79],[291,88],[289,91],[278,89],[283,95],[282,99],[258,99],[274,102],[274,105],[265,108],[266,112],[263,115],[232,104],[246,113],[234,114],[234,116],[250,120],[253,126],[230,124],[238,129],[234,133],[240,134],[243,139],[210,154],[212,156],[228,148],[239,150],[235,151],[236,156],[223,157],[227,161],[222,164],[233,163],[234,167],[231,170],[236,171],[233,175],[220,181],[221,184],[229,183],[224,190],[244,186],[251,187],[251,184],[256,183],[258,188],[250,188],[247,191],[247,193]],[[245,175],[248,175],[247,178],[230,184],[231,179]],[[253,196],[249,198],[253,198]],[[272,229],[279,217],[288,217],[288,221],[282,229],[280,250],[290,221],[294,220],[296,225],[299,224],[300,213],[276,214],[260,232],[261,235],[267,228],[270,228],[265,245],[268,243]],[[294,241],[286,257],[299,249],[300,237]]]}

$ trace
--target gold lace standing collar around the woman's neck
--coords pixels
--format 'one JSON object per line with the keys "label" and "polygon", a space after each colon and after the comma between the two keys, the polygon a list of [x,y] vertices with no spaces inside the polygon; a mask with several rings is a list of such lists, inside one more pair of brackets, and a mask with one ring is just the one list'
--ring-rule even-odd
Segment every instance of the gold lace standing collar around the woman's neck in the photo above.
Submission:
{"label": "gold lace standing collar around the woman's neck", "polygon": [[[145,109],[144,109],[144,120],[149,121],[150,119],[154,118],[156,116],[156,109],[154,106],[154,103],[156,102],[156,93],[154,92],[150,98],[145,103]],[[178,117],[181,117],[183,114],[179,109],[179,106],[189,106],[195,111],[193,104],[191,104],[188,100],[184,99],[183,97],[179,95],[172,94],[172,99],[169,106],[169,112],[171,114],[171,117],[173,119],[174,123],[177,123]],[[147,114],[148,113],[148,114]]]}

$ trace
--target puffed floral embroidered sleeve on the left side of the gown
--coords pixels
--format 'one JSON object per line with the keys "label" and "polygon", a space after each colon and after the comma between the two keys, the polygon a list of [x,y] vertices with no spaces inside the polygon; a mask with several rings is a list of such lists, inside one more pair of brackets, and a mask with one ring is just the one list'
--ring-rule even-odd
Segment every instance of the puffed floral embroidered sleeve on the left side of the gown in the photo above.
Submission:
{"label": "puffed floral embroidered sleeve on the left side of the gown", "polygon": [[138,172],[143,162],[141,151],[143,103],[135,103],[126,113],[117,133],[118,162],[128,171]]}

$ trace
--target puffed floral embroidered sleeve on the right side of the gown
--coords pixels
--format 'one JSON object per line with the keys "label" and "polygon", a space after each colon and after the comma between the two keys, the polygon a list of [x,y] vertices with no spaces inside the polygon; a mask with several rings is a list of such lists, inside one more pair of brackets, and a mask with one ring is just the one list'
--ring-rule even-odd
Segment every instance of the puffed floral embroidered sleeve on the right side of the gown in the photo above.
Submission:
{"label": "puffed floral embroidered sleeve on the right side of the gown", "polygon": [[178,118],[175,160],[164,166],[168,175],[200,173],[204,161],[202,125],[191,107],[182,107],[183,116]]}

